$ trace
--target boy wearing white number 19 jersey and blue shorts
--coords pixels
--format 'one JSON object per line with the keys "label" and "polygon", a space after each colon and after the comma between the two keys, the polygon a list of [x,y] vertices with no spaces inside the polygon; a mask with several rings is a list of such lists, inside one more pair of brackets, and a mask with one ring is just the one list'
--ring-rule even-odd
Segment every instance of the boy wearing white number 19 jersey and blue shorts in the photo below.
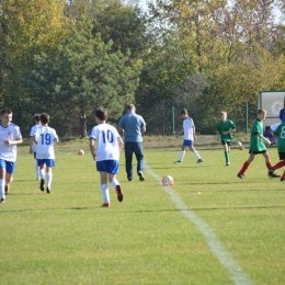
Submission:
{"label": "boy wearing white number 19 jersey and blue shorts", "polygon": [[[50,194],[53,172],[52,168],[55,167],[55,148],[54,146],[59,141],[56,130],[48,126],[49,115],[43,113],[39,116],[41,125],[36,128],[34,141],[36,142],[36,160],[39,167],[39,189],[45,191],[46,178],[46,192]],[[46,173],[45,173],[46,167]]]}

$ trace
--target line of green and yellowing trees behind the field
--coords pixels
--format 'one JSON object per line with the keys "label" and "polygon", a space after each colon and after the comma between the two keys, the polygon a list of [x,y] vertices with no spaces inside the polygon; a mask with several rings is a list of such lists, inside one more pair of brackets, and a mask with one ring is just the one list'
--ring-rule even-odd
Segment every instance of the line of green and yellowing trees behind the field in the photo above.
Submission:
{"label": "line of green and yellowing trees behind the field", "polygon": [[253,121],[259,92],[285,89],[276,5],[283,15],[276,0],[1,0],[0,105],[23,135],[48,112],[61,137],[82,136],[96,107],[116,124],[128,103],[148,135],[171,135],[183,107],[202,134],[220,111],[244,130],[246,105]]}

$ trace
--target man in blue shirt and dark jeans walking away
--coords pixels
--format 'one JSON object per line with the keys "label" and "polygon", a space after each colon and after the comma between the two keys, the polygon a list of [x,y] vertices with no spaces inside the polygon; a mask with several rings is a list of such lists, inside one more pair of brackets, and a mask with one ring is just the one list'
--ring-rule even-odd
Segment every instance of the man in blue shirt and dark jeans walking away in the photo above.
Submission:
{"label": "man in blue shirt and dark jeans walking away", "polygon": [[136,107],[134,104],[129,104],[126,107],[127,113],[121,117],[118,122],[118,133],[124,135],[125,142],[125,159],[126,159],[126,172],[128,181],[133,181],[133,152],[137,159],[137,174],[140,181],[145,180],[144,170],[144,149],[142,149],[142,136],[146,132],[146,122],[142,116],[136,114]]}

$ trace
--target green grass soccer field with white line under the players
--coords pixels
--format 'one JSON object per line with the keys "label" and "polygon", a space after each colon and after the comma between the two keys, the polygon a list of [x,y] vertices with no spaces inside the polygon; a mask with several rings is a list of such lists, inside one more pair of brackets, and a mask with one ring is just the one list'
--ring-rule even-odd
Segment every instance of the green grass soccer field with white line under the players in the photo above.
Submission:
{"label": "green grass soccer field with white line under the players", "polygon": [[[267,178],[262,156],[238,179],[248,151],[235,147],[230,167],[219,145],[203,141],[203,163],[186,151],[173,164],[181,141],[146,140],[145,182],[127,182],[122,156],[124,202],[111,190],[111,208],[100,208],[88,140],[56,147],[52,195],[19,147],[0,205],[0,284],[285,284],[285,184]],[[161,186],[164,174],[172,187]]]}

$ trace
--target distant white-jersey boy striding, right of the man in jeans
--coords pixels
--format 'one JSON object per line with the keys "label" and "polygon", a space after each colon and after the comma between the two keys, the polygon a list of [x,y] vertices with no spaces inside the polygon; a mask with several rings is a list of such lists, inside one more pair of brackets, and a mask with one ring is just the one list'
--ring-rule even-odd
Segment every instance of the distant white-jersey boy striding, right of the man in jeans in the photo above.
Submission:
{"label": "distant white-jersey boy striding, right of the man in jeans", "polygon": [[183,144],[182,144],[180,158],[179,158],[178,161],[174,161],[173,163],[182,163],[183,158],[185,156],[186,147],[189,147],[189,149],[197,158],[197,163],[203,162],[203,159],[198,155],[197,150],[194,148],[194,140],[195,140],[195,137],[196,137],[194,122],[189,116],[189,112],[187,112],[186,109],[183,109],[180,114],[184,118],[184,121],[183,121],[183,127],[182,127],[181,132],[179,132],[176,134],[176,137],[184,133],[184,140],[183,140]]}

